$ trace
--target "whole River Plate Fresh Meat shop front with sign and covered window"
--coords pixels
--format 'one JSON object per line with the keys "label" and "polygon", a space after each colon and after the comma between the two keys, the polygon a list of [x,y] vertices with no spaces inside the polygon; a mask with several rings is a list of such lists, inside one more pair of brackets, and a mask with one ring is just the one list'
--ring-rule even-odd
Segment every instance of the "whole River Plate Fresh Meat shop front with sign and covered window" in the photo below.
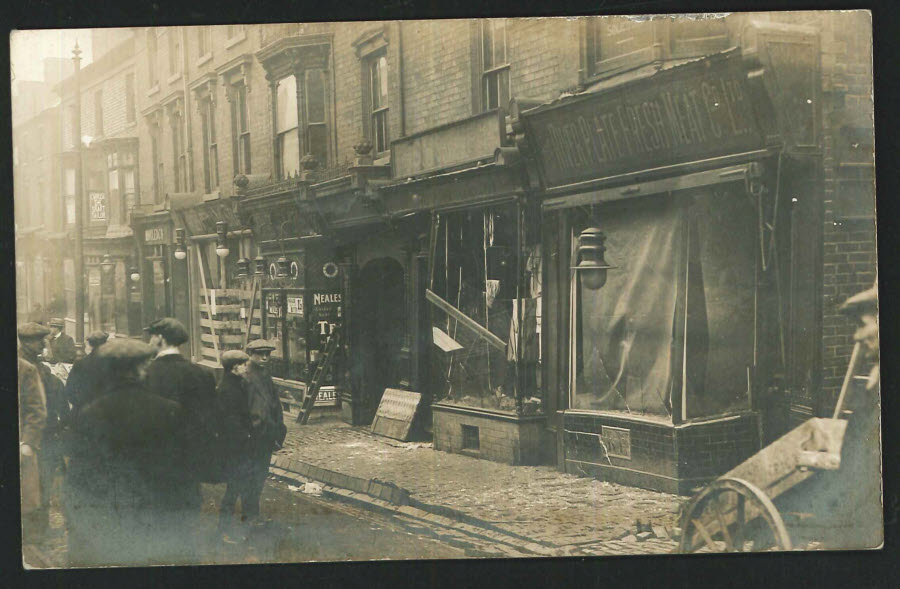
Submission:
{"label": "whole River Plate Fresh Meat shop front with sign and covered window", "polygon": [[543,380],[565,472],[689,492],[812,406],[816,39],[751,32],[514,123],[544,195]]}

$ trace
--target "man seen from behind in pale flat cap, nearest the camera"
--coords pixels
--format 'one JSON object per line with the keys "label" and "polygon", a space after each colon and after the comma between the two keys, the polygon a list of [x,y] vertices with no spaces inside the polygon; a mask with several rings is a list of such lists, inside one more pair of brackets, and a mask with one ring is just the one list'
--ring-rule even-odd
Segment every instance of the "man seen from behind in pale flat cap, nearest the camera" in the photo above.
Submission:
{"label": "man seen from behind in pale flat cap, nearest the camera", "polygon": [[178,403],[142,381],[155,350],[132,339],[104,345],[108,386],[75,414],[66,477],[71,565],[191,562],[197,555],[172,533],[181,518],[173,473]]}

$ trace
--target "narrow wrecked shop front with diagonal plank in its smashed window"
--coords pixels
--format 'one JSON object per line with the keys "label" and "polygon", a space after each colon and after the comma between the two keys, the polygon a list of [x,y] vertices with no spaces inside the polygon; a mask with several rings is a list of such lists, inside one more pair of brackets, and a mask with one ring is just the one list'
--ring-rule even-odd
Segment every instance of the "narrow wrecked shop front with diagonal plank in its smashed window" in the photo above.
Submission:
{"label": "narrow wrecked shop front with diagonal plank in its smashed window", "polygon": [[[539,207],[503,110],[394,141],[394,218],[424,213],[410,334],[434,447],[510,464],[550,459],[541,387]],[[426,239],[427,236],[427,239]]]}

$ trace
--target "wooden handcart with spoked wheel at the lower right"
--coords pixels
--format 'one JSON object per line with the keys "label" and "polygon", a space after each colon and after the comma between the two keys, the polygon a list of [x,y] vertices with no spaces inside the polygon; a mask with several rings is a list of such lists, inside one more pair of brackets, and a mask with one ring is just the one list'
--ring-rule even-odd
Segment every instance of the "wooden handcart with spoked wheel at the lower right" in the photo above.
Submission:
{"label": "wooden handcart with spoked wheel at the lower right", "polygon": [[[792,535],[802,534],[792,527],[794,522],[790,518],[787,519],[791,525],[785,524],[786,518],[779,507],[791,509],[785,505],[797,504],[798,487],[808,490],[810,483],[815,482],[810,479],[827,477],[827,471],[841,468],[847,420],[840,416],[850,381],[861,364],[861,356],[857,343],[832,418],[809,419],[707,485],[685,505],[677,552],[756,552],[794,548]],[[800,503],[805,500],[804,496],[799,497]],[[816,517],[808,513],[792,515]],[[811,529],[808,524],[798,528]]]}

